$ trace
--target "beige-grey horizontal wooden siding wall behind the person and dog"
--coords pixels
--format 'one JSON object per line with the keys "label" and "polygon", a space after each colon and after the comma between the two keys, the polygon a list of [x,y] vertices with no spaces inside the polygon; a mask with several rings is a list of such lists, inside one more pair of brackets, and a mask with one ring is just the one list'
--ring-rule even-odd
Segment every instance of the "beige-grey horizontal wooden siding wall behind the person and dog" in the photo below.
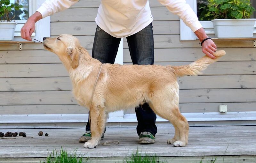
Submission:
{"label": "beige-grey horizontal wooden siding wall behind the person and dog", "polygon": [[[99,0],[80,0],[51,17],[51,35],[75,35],[91,52]],[[203,56],[199,41],[180,41],[179,18],[157,0],[150,0],[154,17],[155,64],[184,65]],[[256,110],[256,48],[248,41],[217,41],[227,55],[207,68],[204,75],[182,77],[181,112]],[[242,48],[238,48],[242,47]],[[0,44],[0,114],[87,114],[77,105],[64,66],[42,44]],[[131,64],[124,39],[124,63]],[[125,111],[134,113],[134,109]]]}

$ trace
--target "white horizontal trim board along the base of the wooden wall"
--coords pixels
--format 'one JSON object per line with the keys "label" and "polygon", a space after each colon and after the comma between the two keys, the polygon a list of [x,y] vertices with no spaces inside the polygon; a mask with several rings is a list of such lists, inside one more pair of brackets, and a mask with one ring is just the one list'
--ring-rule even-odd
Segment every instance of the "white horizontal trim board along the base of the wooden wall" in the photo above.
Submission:
{"label": "white horizontal trim board along the base of the wooden wall", "polygon": [[[182,113],[188,121],[243,121],[256,120],[256,112],[227,113]],[[51,114],[51,115],[0,115],[1,123],[64,123],[87,122],[88,114]],[[136,114],[125,114],[123,117],[111,117],[107,122],[137,122]],[[167,122],[158,117],[156,122]]]}

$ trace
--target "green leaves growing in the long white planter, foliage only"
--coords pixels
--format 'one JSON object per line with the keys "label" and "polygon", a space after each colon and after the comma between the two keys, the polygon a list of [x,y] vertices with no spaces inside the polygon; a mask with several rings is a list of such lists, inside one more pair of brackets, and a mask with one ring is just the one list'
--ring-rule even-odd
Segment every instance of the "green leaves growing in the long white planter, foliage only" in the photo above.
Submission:
{"label": "green leaves growing in the long white planter, foliage only", "polygon": [[201,4],[200,10],[199,20],[248,19],[255,8],[250,0],[208,0],[208,4]]}

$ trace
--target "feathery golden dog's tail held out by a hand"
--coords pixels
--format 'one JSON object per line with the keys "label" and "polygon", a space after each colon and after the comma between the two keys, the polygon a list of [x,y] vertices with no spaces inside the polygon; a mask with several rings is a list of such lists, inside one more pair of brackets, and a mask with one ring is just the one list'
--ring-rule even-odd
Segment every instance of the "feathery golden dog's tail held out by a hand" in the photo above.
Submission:
{"label": "feathery golden dog's tail held out by a hand", "polygon": [[168,69],[174,69],[175,74],[177,77],[182,76],[196,76],[202,74],[202,71],[205,70],[211,63],[214,63],[219,60],[221,56],[224,56],[226,52],[224,50],[219,50],[213,53],[213,56],[216,57],[216,59],[212,59],[208,56],[204,56],[201,59],[190,63],[189,65],[185,66],[166,66]]}

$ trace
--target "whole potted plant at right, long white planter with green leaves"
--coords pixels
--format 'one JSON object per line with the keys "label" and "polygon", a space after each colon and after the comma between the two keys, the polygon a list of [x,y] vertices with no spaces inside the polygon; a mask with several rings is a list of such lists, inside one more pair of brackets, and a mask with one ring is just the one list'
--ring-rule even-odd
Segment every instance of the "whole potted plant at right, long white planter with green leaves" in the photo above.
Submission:
{"label": "whole potted plant at right, long white planter with green leaves", "polygon": [[250,0],[208,0],[199,19],[212,20],[217,38],[251,38],[256,19]]}

